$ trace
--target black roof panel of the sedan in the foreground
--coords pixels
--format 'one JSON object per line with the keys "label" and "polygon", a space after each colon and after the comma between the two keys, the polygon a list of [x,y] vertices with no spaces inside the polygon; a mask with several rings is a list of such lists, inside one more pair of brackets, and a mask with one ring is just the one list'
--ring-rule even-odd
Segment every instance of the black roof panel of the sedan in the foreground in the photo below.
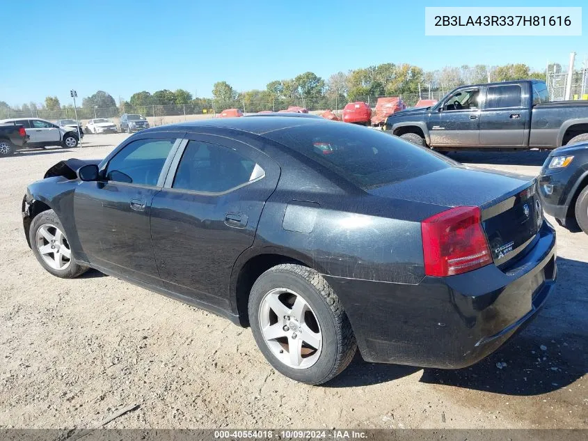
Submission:
{"label": "black roof panel of the sedan in the foreground", "polygon": [[[198,130],[205,127],[219,127],[226,129],[241,130],[254,134],[263,134],[275,130],[283,130],[289,127],[301,125],[329,124],[324,118],[292,118],[292,116],[241,116],[239,118],[214,118],[200,121],[186,121],[184,123],[161,125],[148,129],[150,132],[168,132],[170,130]],[[333,123],[337,124],[337,123]]]}

